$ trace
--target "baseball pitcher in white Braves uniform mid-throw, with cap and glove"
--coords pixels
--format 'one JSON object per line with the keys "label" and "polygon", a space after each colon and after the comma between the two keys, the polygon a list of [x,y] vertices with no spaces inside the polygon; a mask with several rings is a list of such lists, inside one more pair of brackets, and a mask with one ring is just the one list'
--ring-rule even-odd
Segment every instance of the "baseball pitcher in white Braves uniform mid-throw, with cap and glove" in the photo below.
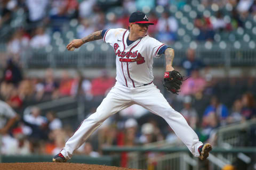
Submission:
{"label": "baseball pitcher in white Braves uniform mid-throw, with cap and glove", "polygon": [[73,137],[66,142],[65,148],[53,158],[53,162],[67,162],[74,150],[79,148],[103,121],[133,104],[163,117],[194,156],[202,160],[209,156],[212,146],[209,143],[203,145],[198,140],[185,118],[174,111],[153,83],[153,58],[161,54],[164,54],[166,59],[163,86],[173,94],[178,94],[183,81],[183,76],[172,66],[174,50],[146,34],[149,25],[153,24],[148,21],[145,13],[134,12],[130,16],[128,30],[101,30],[82,39],[74,39],[67,45],[68,50],[74,50],[89,41],[99,39],[110,44],[116,55],[116,84],[97,111],[83,120]]}

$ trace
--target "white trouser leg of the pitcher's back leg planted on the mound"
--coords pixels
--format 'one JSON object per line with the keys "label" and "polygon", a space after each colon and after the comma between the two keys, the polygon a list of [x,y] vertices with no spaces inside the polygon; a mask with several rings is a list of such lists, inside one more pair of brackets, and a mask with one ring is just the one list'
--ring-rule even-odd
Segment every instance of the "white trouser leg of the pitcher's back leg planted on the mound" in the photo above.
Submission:
{"label": "white trouser leg of the pitcher's back leg planted on the mound", "polygon": [[74,150],[79,148],[109,116],[131,105],[129,98],[125,95],[120,97],[117,94],[120,95],[120,91],[111,90],[107,97],[103,99],[97,111],[86,118],[74,135],[66,142],[65,148],[61,150],[61,154],[66,159],[70,159]]}

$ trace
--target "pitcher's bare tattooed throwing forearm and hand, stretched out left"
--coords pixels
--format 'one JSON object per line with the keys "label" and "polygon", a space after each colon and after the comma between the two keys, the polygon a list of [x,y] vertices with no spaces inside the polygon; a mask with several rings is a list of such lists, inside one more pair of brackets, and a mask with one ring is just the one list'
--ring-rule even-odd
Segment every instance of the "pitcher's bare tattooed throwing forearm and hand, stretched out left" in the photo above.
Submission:
{"label": "pitcher's bare tattooed throwing forearm and hand, stretched out left", "polygon": [[[81,47],[83,44],[90,42],[90,41],[94,41],[94,40],[98,40],[98,39],[102,39],[103,37],[101,36],[101,31],[96,31],[91,33],[89,36],[84,37],[82,39],[73,39],[68,45],[67,45],[67,49],[71,50],[71,48],[75,47],[75,48],[79,48]],[[73,49],[74,50],[74,49]]]}

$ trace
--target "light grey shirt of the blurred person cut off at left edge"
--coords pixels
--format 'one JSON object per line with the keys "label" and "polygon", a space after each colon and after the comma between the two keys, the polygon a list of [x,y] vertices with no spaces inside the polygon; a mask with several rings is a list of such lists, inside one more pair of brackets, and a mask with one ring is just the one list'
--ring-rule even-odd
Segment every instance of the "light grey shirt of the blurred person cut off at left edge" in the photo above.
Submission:
{"label": "light grey shirt of the blurred person cut off at left edge", "polygon": [[4,101],[0,100],[0,129],[3,128],[10,118],[16,116],[13,109]]}

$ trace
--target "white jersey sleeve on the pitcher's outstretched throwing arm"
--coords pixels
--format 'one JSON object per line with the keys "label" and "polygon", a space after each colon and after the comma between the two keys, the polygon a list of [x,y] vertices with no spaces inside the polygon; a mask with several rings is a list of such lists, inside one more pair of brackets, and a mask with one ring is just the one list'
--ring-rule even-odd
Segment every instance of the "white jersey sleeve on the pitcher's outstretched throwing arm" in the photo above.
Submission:
{"label": "white jersey sleeve on the pitcher's outstretched throwing arm", "polygon": [[103,41],[105,43],[113,44],[116,42],[117,38],[122,35],[124,32],[124,29],[122,28],[117,28],[117,29],[108,29],[105,32],[105,35],[103,37]]}

